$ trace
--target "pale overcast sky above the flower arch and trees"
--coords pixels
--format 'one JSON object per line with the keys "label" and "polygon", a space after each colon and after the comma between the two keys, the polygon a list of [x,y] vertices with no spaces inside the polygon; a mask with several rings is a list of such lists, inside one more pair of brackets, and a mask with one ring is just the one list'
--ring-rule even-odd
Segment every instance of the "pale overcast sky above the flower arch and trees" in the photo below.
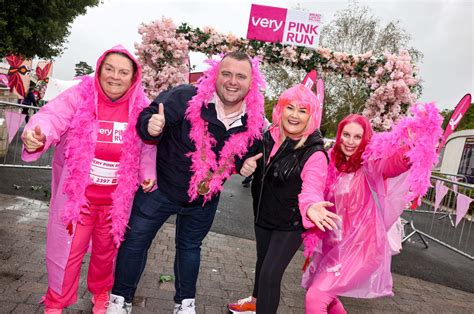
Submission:
{"label": "pale overcast sky above the flower arch and trees", "polygon": [[[359,1],[368,6],[382,25],[399,20],[412,36],[411,46],[424,54],[419,65],[423,79],[420,101],[435,101],[441,109],[454,108],[461,97],[474,93],[472,0],[380,0]],[[140,41],[138,26],[165,16],[176,25],[212,26],[220,32],[245,37],[252,3],[295,8],[297,3],[330,21],[336,11],[348,6],[346,0],[262,1],[262,0],[104,0],[76,18],[62,56],[56,59],[53,77],[69,80],[74,65],[86,61],[95,67],[99,55],[123,44],[134,52]],[[191,62],[200,70],[201,59]]]}

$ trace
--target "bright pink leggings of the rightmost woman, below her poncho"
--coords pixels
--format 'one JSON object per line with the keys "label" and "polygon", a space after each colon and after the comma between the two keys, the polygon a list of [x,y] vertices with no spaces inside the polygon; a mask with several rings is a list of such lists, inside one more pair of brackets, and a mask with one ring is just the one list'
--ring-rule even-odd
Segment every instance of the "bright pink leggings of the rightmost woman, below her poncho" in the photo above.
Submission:
{"label": "bright pink leggings of the rightmost woman, below her poncho", "polygon": [[306,313],[307,314],[346,314],[346,310],[337,296],[318,290],[316,287],[309,287],[306,292]]}

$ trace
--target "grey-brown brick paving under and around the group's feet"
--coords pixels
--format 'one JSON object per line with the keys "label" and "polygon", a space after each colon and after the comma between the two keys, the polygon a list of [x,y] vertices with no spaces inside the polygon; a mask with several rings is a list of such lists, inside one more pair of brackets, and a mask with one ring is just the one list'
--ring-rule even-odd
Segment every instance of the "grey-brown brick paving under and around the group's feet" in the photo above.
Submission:
{"label": "grey-brown brick paving under and around the group's feet", "polygon": [[[46,290],[44,242],[47,209],[43,202],[0,194],[0,313],[41,313],[38,304]],[[160,283],[172,274],[174,225],[165,224],[155,239],[137,292],[134,313],[170,313],[173,283]],[[248,296],[252,289],[255,243],[211,232],[202,250],[198,282],[198,313],[226,313],[225,304]],[[279,313],[304,313],[297,254],[282,285]],[[84,263],[85,274],[87,260]],[[90,313],[90,295],[82,276],[79,301],[68,313]],[[472,313],[474,294],[394,274],[392,298],[343,298],[349,313]]]}

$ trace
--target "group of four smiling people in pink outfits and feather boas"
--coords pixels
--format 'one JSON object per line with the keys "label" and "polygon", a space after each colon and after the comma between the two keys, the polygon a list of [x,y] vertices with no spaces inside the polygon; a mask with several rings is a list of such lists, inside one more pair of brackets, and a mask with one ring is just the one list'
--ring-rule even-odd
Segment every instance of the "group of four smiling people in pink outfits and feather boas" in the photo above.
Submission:
{"label": "group of four smiling people in pink outfits and feather boas", "polygon": [[[435,154],[436,108],[406,118],[398,141],[373,140],[369,121],[350,115],[326,152],[322,103],[311,90],[285,91],[264,131],[258,59],[236,51],[207,62],[197,86],[171,88],[150,104],[140,64],[117,46],[99,58],[94,77],[30,119],[22,158],[55,146],[45,313],[77,301],[89,249],[93,313],[130,313],[148,249],[171,215],[173,312],[195,313],[201,244],[233,173],[254,178],[257,261],[252,296],[230,303],[231,312],[276,313],[283,273],[302,242],[307,313],[344,313],[341,295],[392,293],[389,237],[405,201],[400,191],[430,171],[412,152],[422,143]],[[420,120],[425,129],[415,127]]]}

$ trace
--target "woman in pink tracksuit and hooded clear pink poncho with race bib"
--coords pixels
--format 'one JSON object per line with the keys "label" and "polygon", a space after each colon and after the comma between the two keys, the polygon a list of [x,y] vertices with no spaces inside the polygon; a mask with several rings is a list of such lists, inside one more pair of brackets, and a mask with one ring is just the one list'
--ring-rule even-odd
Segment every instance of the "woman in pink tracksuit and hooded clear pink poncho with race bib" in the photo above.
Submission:
{"label": "woman in pink tracksuit and hooded clear pink poncho with race bib", "polygon": [[138,114],[149,104],[140,65],[116,46],[99,58],[96,73],[80,78],[41,108],[22,135],[25,161],[55,146],[46,313],[61,313],[77,301],[82,259],[90,243],[87,283],[93,312],[105,313],[134,193],[139,182],[146,190],[154,182],[154,161],[140,158],[154,156],[145,152],[154,146],[144,145],[135,131]]}

